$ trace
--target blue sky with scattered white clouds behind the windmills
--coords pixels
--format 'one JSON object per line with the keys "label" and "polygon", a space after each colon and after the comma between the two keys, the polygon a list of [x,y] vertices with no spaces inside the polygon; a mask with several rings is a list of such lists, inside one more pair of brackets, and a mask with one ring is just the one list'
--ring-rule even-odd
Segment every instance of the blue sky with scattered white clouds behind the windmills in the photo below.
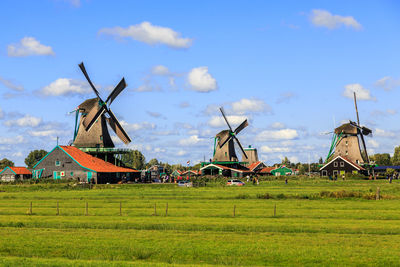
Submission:
{"label": "blue sky with scattered white clouds behind the windmills", "polygon": [[[316,161],[334,125],[374,134],[369,153],[400,145],[398,1],[2,1],[0,158],[73,138],[68,113],[104,98],[147,160],[199,162],[245,118],[244,146],[268,164]],[[114,138],[119,147],[126,147]]]}

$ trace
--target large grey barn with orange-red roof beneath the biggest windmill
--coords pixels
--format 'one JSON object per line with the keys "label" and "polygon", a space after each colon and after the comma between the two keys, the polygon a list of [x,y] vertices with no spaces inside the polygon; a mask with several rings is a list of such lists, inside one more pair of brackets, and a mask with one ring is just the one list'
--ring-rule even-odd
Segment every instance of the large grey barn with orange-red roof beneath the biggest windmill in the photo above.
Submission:
{"label": "large grey barn with orange-red roof beneath the biggest windmill", "polygon": [[134,169],[115,166],[74,146],[56,146],[33,167],[34,178],[75,179],[89,183],[116,183],[138,177]]}

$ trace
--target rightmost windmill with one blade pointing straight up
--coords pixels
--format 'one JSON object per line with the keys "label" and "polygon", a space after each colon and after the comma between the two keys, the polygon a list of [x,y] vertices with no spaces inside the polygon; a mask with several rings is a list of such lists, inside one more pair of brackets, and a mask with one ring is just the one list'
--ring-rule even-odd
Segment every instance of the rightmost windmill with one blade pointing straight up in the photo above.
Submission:
{"label": "rightmost windmill with one blade pointing straight up", "polygon": [[370,163],[364,136],[372,135],[372,130],[360,125],[355,92],[354,106],[356,109],[357,123],[349,121],[335,129],[326,162],[333,155],[333,157],[346,157],[357,164]]}

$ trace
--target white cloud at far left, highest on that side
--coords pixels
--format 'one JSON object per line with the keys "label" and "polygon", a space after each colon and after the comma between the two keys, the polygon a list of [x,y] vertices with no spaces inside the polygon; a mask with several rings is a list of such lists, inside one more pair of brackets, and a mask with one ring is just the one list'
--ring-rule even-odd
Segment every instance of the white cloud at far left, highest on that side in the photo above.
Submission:
{"label": "white cloud at far left, highest on that side", "polygon": [[51,46],[42,45],[34,37],[24,37],[18,44],[8,45],[7,52],[10,57],[55,55]]}

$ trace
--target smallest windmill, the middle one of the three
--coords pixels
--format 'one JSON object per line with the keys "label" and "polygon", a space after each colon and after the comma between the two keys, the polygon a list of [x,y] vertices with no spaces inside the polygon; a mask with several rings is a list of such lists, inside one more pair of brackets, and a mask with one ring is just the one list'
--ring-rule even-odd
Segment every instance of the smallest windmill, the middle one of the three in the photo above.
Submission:
{"label": "smallest windmill, the middle one of the three", "polygon": [[244,120],[235,130],[232,130],[232,127],[225,116],[224,109],[221,107],[219,110],[221,111],[229,129],[223,130],[215,136],[213,162],[237,162],[238,157],[235,153],[234,142],[236,142],[242,151],[243,156],[247,159],[247,154],[240,144],[239,139],[236,137],[244,128],[249,125],[247,119]]}

